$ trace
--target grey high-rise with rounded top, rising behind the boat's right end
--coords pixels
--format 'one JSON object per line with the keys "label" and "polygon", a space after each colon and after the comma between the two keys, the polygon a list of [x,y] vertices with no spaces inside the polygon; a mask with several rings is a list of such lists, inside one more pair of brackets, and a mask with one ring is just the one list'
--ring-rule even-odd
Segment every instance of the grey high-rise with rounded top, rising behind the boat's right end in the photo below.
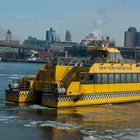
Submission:
{"label": "grey high-rise with rounded top, rising behind the boat's right end", "polygon": [[136,34],[137,34],[137,29],[135,27],[129,27],[128,31],[125,31],[125,35],[124,35],[125,47],[136,46]]}

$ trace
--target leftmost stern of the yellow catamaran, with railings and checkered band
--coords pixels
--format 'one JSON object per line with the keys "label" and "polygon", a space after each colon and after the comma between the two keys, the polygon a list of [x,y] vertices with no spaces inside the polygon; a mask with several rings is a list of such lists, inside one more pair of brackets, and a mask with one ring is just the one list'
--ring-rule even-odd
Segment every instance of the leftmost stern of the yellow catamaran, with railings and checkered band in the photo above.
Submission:
{"label": "leftmost stern of the yellow catamaran, with railings and checkered band", "polygon": [[8,89],[5,90],[6,101],[12,102],[35,102],[37,100],[37,94],[32,91],[31,86],[33,83],[31,80],[16,79],[8,85]]}

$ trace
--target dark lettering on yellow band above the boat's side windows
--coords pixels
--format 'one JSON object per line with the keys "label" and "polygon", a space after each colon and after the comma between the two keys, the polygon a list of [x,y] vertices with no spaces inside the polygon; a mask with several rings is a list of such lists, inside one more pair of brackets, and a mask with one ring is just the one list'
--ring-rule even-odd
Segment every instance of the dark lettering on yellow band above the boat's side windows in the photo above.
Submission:
{"label": "dark lettering on yellow band above the boat's side windows", "polygon": [[114,67],[114,66],[100,66],[99,67],[100,70],[133,70],[132,67]]}

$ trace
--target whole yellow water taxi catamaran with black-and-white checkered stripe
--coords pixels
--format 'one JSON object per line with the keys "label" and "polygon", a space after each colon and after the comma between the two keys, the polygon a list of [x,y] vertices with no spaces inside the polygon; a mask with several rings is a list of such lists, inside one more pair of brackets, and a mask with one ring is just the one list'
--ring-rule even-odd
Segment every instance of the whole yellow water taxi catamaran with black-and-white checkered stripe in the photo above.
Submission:
{"label": "whole yellow water taxi catamaran with black-and-white checkered stripe", "polygon": [[11,83],[6,100],[70,107],[140,100],[140,66],[115,47],[89,47],[90,58],[59,58],[34,77]]}

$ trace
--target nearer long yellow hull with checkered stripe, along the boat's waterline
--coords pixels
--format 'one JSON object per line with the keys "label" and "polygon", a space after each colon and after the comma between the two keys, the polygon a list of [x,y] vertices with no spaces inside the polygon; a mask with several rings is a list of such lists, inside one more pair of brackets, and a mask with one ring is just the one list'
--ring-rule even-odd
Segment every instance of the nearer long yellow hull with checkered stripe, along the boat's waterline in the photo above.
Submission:
{"label": "nearer long yellow hull with checkered stripe, along the boat's waterline", "polygon": [[42,105],[50,107],[70,107],[94,104],[110,104],[140,101],[140,91],[119,93],[95,93],[75,96],[42,95]]}

